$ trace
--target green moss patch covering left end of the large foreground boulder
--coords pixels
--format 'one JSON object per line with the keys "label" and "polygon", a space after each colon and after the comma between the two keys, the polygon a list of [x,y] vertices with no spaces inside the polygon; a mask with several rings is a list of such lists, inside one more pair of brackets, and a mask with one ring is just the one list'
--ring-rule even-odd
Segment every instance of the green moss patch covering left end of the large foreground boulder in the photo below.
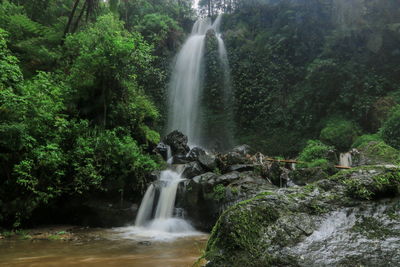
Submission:
{"label": "green moss patch covering left end of the large foreground boulder", "polygon": [[[272,264],[274,258],[265,253],[266,247],[261,240],[263,229],[278,219],[279,211],[260,203],[271,194],[264,192],[227,209],[211,232],[204,257],[212,259],[216,266]],[[224,249],[223,256],[220,248]]]}

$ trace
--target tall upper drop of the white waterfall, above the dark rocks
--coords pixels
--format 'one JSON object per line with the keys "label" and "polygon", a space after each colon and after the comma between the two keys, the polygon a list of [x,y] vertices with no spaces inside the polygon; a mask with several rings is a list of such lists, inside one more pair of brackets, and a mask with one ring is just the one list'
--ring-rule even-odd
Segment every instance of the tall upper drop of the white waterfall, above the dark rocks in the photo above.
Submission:
{"label": "tall upper drop of the white waterfall, above the dark rocks", "polygon": [[[201,99],[204,76],[204,53],[207,31],[213,29],[218,38],[220,61],[224,69],[225,84],[229,80],[229,63],[224,42],[219,33],[222,15],[213,24],[209,18],[198,19],[189,38],[179,51],[172,71],[168,90],[167,130],[179,130],[187,135],[191,145],[201,146],[202,135]],[[230,86],[226,86],[227,88]],[[230,93],[225,99],[229,101]]]}

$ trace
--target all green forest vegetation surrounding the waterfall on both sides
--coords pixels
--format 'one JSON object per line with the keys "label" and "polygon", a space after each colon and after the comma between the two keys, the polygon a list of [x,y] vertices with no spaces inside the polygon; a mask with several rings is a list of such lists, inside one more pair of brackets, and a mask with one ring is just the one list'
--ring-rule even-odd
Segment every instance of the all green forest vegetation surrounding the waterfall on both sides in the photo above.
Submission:
{"label": "all green forest vegetation surrounding the waterfall on both sides", "polygon": [[397,0],[2,0],[0,226],[140,200],[197,12],[224,13],[236,144],[313,164],[367,141],[400,149]]}

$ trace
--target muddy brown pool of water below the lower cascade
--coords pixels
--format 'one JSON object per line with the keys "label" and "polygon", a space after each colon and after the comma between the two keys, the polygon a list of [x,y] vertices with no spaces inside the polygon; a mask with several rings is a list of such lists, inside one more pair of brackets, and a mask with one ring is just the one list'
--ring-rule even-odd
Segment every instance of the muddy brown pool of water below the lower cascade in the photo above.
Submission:
{"label": "muddy brown pool of water below the lower cascade", "polygon": [[146,232],[136,227],[85,229],[66,240],[5,238],[0,266],[193,266],[208,235]]}

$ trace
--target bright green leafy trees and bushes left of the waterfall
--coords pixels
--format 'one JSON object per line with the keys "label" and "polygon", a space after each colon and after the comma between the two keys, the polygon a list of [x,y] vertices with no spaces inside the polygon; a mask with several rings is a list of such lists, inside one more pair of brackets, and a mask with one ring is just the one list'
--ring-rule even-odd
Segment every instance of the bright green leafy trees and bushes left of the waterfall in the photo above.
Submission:
{"label": "bright green leafy trees and bushes left of the waterfall", "polygon": [[130,27],[117,12],[128,1],[112,11],[81,1],[75,14],[72,0],[19,2],[0,4],[0,226],[19,227],[61,199],[139,200],[159,168],[148,153],[160,139],[152,96],[166,83],[157,56],[175,49],[162,42],[182,32],[177,3],[130,6],[140,18]]}

